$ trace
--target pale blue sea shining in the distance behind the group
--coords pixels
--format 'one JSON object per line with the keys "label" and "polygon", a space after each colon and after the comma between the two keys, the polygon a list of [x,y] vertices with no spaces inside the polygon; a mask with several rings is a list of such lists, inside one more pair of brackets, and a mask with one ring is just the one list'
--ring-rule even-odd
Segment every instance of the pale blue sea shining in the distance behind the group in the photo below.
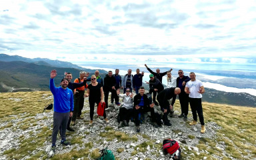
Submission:
{"label": "pale blue sea shining in the distance behind the group", "polygon": [[[132,69],[132,74],[136,74],[136,69],[144,71],[143,81],[149,81],[149,71],[145,67],[145,63],[152,70],[157,68],[160,72],[171,71],[173,77],[178,77],[178,70],[182,69],[184,75],[194,72],[196,78],[203,82],[204,87],[216,89],[225,92],[249,93],[256,96],[256,64],[230,64],[230,63],[159,63],[150,62],[87,62],[75,63],[87,69],[103,69],[105,71],[113,71],[119,69],[120,75],[125,75],[128,69]],[[163,77],[163,84],[167,84],[167,76]]]}

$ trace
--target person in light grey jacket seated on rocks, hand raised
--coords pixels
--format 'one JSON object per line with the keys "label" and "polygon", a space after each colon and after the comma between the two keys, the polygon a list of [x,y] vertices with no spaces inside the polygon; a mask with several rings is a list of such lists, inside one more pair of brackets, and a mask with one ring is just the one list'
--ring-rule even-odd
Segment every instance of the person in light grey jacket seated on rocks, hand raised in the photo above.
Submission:
{"label": "person in light grey jacket seated on rocks, hand raised", "polygon": [[133,115],[133,93],[130,88],[126,88],[125,94],[121,95],[117,90],[117,95],[123,98],[122,107],[119,109],[120,123],[119,128],[123,125],[128,126],[129,119]]}

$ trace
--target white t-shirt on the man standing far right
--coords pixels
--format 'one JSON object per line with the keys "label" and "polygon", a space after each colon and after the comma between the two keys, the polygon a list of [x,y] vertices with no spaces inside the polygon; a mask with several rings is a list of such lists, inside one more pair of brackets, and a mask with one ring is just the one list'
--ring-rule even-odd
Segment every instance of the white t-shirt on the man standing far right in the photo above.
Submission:
{"label": "white t-shirt on the man standing far right", "polygon": [[203,83],[197,79],[195,81],[188,81],[186,87],[189,87],[189,97],[191,98],[201,98],[203,97],[199,92],[200,87],[203,86]]}

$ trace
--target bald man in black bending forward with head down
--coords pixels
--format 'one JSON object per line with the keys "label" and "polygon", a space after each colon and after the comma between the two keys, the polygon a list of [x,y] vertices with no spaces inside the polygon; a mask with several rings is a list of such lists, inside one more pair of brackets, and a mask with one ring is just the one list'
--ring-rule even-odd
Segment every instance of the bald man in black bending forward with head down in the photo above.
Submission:
{"label": "bald man in black bending forward with head down", "polygon": [[[171,126],[171,123],[169,119],[167,118],[167,115],[171,112],[171,109],[173,109],[173,104],[175,103],[176,95],[179,95],[181,93],[181,89],[179,87],[171,87],[167,89],[163,89],[158,95],[157,95],[157,101],[159,102],[159,105],[161,107],[161,110],[163,111],[163,124],[167,126]],[[173,99],[171,105],[169,103],[169,99]]]}

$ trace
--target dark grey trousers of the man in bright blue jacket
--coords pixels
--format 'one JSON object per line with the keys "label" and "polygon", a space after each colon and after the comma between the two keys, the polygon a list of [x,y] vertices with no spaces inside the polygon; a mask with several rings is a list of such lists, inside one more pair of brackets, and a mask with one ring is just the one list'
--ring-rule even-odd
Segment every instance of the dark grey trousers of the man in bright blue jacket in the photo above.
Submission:
{"label": "dark grey trousers of the man in bright blue jacket", "polygon": [[53,112],[53,134],[51,135],[51,143],[55,144],[57,141],[57,134],[61,127],[61,140],[66,140],[67,121],[69,121],[69,112],[59,113]]}

